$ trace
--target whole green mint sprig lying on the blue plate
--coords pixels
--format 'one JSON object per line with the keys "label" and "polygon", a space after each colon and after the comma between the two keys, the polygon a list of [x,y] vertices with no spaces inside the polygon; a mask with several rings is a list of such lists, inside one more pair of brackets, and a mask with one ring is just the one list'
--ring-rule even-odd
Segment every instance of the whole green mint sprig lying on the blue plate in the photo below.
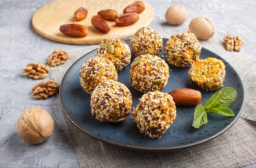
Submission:
{"label": "whole green mint sprig lying on the blue plate", "polygon": [[192,126],[199,128],[208,122],[208,113],[217,113],[223,116],[234,116],[228,107],[236,99],[237,93],[233,88],[223,88],[212,95],[205,103],[196,106]]}

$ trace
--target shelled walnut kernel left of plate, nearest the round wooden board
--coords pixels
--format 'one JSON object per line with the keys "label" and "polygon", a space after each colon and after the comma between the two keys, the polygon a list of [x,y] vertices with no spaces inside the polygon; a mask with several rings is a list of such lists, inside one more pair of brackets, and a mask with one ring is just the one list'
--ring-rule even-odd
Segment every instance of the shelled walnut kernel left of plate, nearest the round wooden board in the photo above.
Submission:
{"label": "shelled walnut kernel left of plate, nearest the round wooden board", "polygon": [[58,66],[65,63],[65,60],[68,60],[70,55],[67,51],[61,50],[60,48],[56,48],[52,54],[49,55],[48,65]]}

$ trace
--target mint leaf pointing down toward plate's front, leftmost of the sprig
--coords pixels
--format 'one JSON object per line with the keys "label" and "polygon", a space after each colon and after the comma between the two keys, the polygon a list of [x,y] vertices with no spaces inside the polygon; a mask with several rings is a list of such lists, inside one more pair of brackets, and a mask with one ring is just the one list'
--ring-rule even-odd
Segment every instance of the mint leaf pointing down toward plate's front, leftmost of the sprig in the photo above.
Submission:
{"label": "mint leaf pointing down toward plate's front, leftmost of the sprig", "polygon": [[195,128],[199,128],[207,122],[207,113],[204,110],[204,107],[201,104],[196,106],[192,126]]}

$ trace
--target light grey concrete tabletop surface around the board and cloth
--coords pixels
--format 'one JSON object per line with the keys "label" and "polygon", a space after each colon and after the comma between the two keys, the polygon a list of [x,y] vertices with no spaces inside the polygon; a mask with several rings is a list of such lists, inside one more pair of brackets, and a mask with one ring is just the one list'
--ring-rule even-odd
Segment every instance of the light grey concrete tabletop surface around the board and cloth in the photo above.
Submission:
{"label": "light grey concrete tabletop surface around the board and cloth", "polygon": [[[1,0],[0,6],[0,167],[79,167],[57,97],[53,96],[48,100],[33,99],[31,88],[41,80],[23,77],[22,69],[28,62],[44,63],[55,48],[71,52],[96,48],[97,45],[67,45],[41,37],[32,28],[31,19],[37,7],[49,1],[25,0],[22,1],[23,4],[20,2]],[[166,9],[172,3],[180,1],[148,2],[154,8],[154,20],[150,27],[158,30],[163,37],[166,37],[165,34],[169,31],[188,28],[193,18],[204,16],[215,24],[216,33],[221,35],[220,39],[227,34],[241,36],[245,42],[242,51],[256,58],[255,0],[182,1],[182,4],[188,7],[189,18],[181,26],[170,26],[164,17]],[[31,106],[43,107],[54,121],[52,136],[39,145],[30,145],[17,134],[17,118]]]}

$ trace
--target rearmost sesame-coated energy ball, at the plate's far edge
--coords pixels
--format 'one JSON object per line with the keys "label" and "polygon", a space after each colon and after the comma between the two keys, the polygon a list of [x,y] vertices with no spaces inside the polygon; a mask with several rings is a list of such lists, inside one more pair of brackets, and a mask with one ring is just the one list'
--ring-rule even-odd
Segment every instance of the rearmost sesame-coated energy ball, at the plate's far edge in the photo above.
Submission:
{"label": "rearmost sesame-coated energy ball, at the plate's far edge", "polygon": [[131,51],[135,57],[139,57],[144,54],[159,56],[162,49],[162,37],[158,31],[151,28],[140,28],[131,38]]}

